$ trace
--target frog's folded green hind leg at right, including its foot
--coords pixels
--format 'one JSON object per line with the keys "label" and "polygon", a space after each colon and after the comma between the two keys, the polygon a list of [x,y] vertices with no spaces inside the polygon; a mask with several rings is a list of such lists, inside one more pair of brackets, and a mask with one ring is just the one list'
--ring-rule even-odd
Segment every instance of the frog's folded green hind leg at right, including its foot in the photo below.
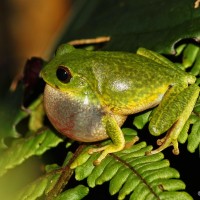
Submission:
{"label": "frog's folded green hind leg at right, including its foot", "polygon": [[168,132],[163,139],[158,140],[157,143],[160,147],[149,152],[150,154],[158,153],[171,145],[174,147],[173,153],[179,154],[178,136],[188,120],[198,96],[199,87],[195,84],[185,89],[180,85],[169,89],[149,123],[152,135],[157,136],[167,130]]}

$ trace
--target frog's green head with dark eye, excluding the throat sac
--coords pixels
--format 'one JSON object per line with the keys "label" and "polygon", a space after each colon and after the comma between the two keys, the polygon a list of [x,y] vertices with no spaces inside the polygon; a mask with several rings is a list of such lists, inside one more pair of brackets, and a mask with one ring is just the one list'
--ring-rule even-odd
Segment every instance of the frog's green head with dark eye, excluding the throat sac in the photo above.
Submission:
{"label": "frog's green head with dark eye, excluding the throat sac", "polygon": [[88,91],[90,86],[85,77],[88,68],[83,61],[85,55],[85,50],[78,50],[67,44],[61,45],[55,57],[42,69],[40,76],[48,85],[61,92],[74,94]]}

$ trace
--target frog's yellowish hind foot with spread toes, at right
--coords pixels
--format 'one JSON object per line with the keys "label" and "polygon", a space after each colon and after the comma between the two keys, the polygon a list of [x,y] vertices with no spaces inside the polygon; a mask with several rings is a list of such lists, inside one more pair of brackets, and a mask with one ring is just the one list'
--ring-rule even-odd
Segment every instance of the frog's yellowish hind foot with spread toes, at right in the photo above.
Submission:
{"label": "frog's yellowish hind foot with spread toes, at right", "polygon": [[172,132],[168,132],[167,135],[162,138],[162,139],[158,139],[157,140],[157,144],[160,146],[159,148],[152,150],[150,152],[147,152],[147,155],[151,155],[151,154],[156,154],[159,153],[161,151],[163,151],[164,149],[166,149],[169,146],[173,146],[174,149],[172,150],[173,154],[178,155],[179,154],[179,148],[178,148],[178,141],[177,138],[173,138],[172,137]]}

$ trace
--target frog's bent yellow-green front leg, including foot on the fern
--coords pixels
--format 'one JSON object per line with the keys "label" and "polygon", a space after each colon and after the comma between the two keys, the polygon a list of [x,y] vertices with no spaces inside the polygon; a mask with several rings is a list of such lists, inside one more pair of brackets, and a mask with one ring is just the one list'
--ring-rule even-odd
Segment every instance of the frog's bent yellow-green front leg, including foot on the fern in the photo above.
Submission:
{"label": "frog's bent yellow-green front leg, including foot on the fern", "polygon": [[103,151],[99,158],[94,162],[95,165],[99,164],[109,153],[120,151],[125,147],[124,135],[114,117],[110,115],[104,116],[103,123],[105,124],[106,133],[111,138],[113,143],[100,148],[93,148],[89,150],[90,154]]}

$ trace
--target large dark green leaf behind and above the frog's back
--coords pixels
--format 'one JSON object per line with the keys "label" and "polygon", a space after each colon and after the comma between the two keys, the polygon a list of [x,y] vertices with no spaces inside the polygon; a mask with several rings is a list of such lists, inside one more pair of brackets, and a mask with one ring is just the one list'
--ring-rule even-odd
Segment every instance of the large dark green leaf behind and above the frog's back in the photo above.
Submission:
{"label": "large dark green leaf behind and above the frog's back", "polygon": [[76,3],[75,17],[61,43],[110,36],[110,42],[105,45],[107,50],[135,51],[142,46],[174,53],[174,44],[181,39],[200,36],[200,12],[194,9],[191,0],[86,0],[84,4],[81,0]]}

